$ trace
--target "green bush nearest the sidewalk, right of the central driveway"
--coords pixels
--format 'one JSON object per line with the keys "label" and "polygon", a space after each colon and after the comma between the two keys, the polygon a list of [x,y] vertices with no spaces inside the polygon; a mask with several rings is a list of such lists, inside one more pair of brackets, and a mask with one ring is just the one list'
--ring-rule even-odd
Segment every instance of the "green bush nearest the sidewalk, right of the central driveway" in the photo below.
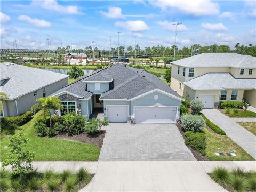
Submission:
{"label": "green bush nearest the sidewalk, right of the central driveway", "polygon": [[192,131],[187,131],[185,136],[186,145],[199,151],[202,155],[206,154],[206,136],[204,133],[193,133]]}

